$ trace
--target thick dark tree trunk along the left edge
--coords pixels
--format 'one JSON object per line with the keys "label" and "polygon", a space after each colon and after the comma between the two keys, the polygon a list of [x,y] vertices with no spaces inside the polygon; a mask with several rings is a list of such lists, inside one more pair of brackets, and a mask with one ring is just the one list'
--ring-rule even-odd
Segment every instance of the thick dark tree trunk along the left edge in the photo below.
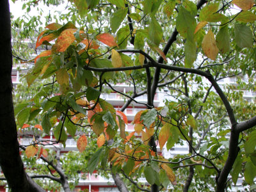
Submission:
{"label": "thick dark tree trunk along the left edge", "polygon": [[8,0],[0,1],[0,166],[12,191],[44,191],[24,171],[12,101],[12,45]]}

